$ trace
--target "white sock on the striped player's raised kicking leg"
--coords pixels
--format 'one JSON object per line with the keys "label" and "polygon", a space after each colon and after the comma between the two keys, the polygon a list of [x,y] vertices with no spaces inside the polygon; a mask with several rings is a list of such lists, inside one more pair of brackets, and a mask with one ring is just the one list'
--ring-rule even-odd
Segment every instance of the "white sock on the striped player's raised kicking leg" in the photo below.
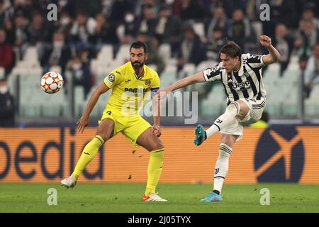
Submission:
{"label": "white sock on the striped player's raised kicking leg", "polygon": [[240,105],[235,101],[230,103],[227,106],[225,113],[217,118],[213,125],[206,130],[207,138],[221,129],[230,126],[230,124],[235,123],[235,117],[239,114],[239,112]]}

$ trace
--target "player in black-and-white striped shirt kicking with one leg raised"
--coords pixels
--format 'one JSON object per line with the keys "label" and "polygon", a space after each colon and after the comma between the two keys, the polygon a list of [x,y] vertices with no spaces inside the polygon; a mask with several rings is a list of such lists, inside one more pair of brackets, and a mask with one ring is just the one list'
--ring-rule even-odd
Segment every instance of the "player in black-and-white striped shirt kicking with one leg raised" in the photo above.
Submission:
{"label": "player in black-and-white striped shirt kicking with one leg raised", "polygon": [[228,173],[228,161],[235,142],[242,138],[242,123],[258,121],[266,105],[266,91],[262,82],[262,67],[277,62],[280,53],[267,35],[260,36],[260,43],[267,48],[267,55],[242,54],[240,47],[229,42],[220,50],[221,62],[215,67],[185,77],[157,92],[162,99],[167,92],[196,82],[223,82],[227,96],[225,113],[206,129],[196,126],[194,143],[201,145],[211,135],[220,132],[220,147],[214,172],[213,192],[202,202],[221,201],[221,189]]}

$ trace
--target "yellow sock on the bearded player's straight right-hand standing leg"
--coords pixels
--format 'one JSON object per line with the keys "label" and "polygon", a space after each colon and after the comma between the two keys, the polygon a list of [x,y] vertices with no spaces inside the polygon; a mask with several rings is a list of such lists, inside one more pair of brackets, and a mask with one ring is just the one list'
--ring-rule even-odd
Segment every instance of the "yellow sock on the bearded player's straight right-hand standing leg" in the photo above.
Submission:
{"label": "yellow sock on the bearded player's straight right-hand standing leg", "polygon": [[164,148],[152,150],[150,152],[150,161],[147,167],[147,185],[145,196],[155,192],[155,188],[159,182],[159,177],[162,174]]}

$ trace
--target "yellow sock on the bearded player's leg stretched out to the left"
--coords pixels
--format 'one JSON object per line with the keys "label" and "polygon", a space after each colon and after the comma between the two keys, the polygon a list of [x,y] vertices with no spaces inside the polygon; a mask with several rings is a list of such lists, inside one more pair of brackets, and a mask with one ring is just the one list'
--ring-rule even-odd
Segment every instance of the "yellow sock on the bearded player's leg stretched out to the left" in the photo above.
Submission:
{"label": "yellow sock on the bearded player's leg stretched out to the left", "polygon": [[99,148],[101,148],[101,145],[103,145],[103,143],[103,138],[101,138],[101,136],[99,135],[96,135],[88,144],[86,144],[81,157],[77,161],[77,166],[72,173],[75,178],[79,178],[79,175],[82,174],[86,165],[88,165],[91,160],[93,160],[94,156],[96,155]]}

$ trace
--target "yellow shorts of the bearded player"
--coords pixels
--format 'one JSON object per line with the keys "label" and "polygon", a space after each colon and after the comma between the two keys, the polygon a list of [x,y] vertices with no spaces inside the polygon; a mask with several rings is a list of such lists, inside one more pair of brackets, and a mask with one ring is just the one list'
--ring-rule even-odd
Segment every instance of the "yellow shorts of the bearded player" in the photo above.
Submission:
{"label": "yellow shorts of the bearded player", "polygon": [[[130,140],[130,143],[138,147],[138,137],[152,127],[150,123],[145,121],[141,116],[123,116],[120,111],[114,111],[112,109],[106,109],[103,111],[101,121],[104,118],[110,118],[114,121],[113,136],[117,133],[122,133],[126,138]],[[101,123],[99,121],[99,123]]]}

